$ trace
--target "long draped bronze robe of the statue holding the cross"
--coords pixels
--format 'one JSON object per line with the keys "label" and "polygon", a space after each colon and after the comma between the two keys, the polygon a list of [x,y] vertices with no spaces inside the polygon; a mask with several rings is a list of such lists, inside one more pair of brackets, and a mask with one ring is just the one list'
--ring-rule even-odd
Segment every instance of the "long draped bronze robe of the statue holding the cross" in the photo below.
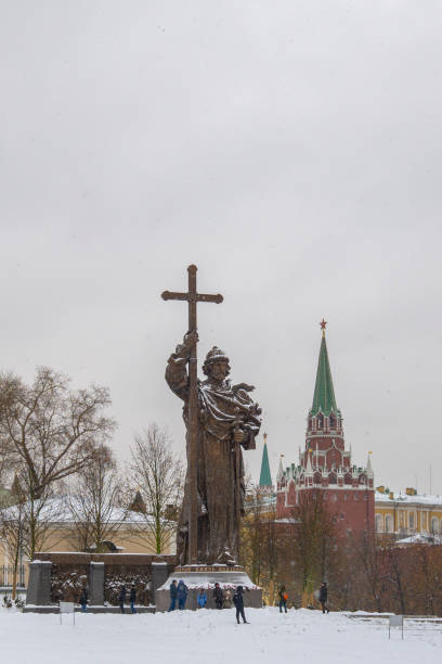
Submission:
{"label": "long draped bronze robe of the statue holding the cross", "polygon": [[[188,469],[188,375],[187,358],[177,353],[169,358],[166,381],[184,400],[183,418],[187,427],[187,473],[183,508],[177,535],[180,564],[188,563],[190,469]],[[244,513],[245,483],[240,447],[255,449],[259,433],[258,405],[240,384],[232,386],[229,380],[221,385],[210,379],[198,381],[198,563],[234,564],[238,560],[239,522]],[[235,444],[235,422],[240,420],[244,442]]]}

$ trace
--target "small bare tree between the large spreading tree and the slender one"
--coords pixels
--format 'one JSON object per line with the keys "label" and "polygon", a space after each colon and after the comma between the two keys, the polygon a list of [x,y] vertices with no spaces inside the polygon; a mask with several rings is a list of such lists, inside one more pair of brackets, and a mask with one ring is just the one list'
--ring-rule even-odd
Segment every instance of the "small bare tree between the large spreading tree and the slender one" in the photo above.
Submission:
{"label": "small bare tree between the large spreading tree and the slender one", "polygon": [[102,445],[93,463],[75,475],[67,502],[74,522],[72,539],[79,550],[100,550],[125,526],[128,510],[122,507],[121,480],[107,446]]}

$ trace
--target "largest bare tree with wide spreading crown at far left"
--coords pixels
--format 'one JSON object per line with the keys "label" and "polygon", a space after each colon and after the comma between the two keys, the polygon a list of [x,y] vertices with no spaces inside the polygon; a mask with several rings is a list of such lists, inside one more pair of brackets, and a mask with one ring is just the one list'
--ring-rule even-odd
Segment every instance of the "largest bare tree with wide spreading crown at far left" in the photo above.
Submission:
{"label": "largest bare tree with wide spreading crown at far left", "polygon": [[29,556],[40,540],[39,528],[52,488],[93,463],[96,450],[115,427],[103,414],[108,391],[69,391],[68,379],[39,368],[31,386],[17,376],[0,375],[0,439],[6,442],[26,496]]}

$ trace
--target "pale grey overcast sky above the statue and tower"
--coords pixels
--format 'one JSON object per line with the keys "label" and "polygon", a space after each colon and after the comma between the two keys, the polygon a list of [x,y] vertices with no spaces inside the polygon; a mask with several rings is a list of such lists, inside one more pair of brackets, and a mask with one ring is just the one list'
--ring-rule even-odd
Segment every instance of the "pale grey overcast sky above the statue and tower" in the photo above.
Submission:
{"label": "pale grey overcast sky above the statue and tower", "polygon": [[[298,460],[321,343],[377,484],[442,494],[439,1],[0,0],[1,360],[157,421],[198,266],[199,356]],[[262,436],[245,457],[259,474]]]}

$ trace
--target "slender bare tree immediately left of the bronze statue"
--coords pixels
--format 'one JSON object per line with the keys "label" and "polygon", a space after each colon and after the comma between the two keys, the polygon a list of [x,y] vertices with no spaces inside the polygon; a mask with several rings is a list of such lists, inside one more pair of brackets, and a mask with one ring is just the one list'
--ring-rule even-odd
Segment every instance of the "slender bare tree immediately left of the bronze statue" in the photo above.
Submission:
{"label": "slender bare tree immediately left of the bronze statue", "polygon": [[135,435],[130,475],[145,506],[140,511],[143,518],[133,524],[134,533],[148,546],[153,540],[155,553],[161,553],[170,547],[177,533],[184,470],[172,451],[169,435],[157,424]]}

